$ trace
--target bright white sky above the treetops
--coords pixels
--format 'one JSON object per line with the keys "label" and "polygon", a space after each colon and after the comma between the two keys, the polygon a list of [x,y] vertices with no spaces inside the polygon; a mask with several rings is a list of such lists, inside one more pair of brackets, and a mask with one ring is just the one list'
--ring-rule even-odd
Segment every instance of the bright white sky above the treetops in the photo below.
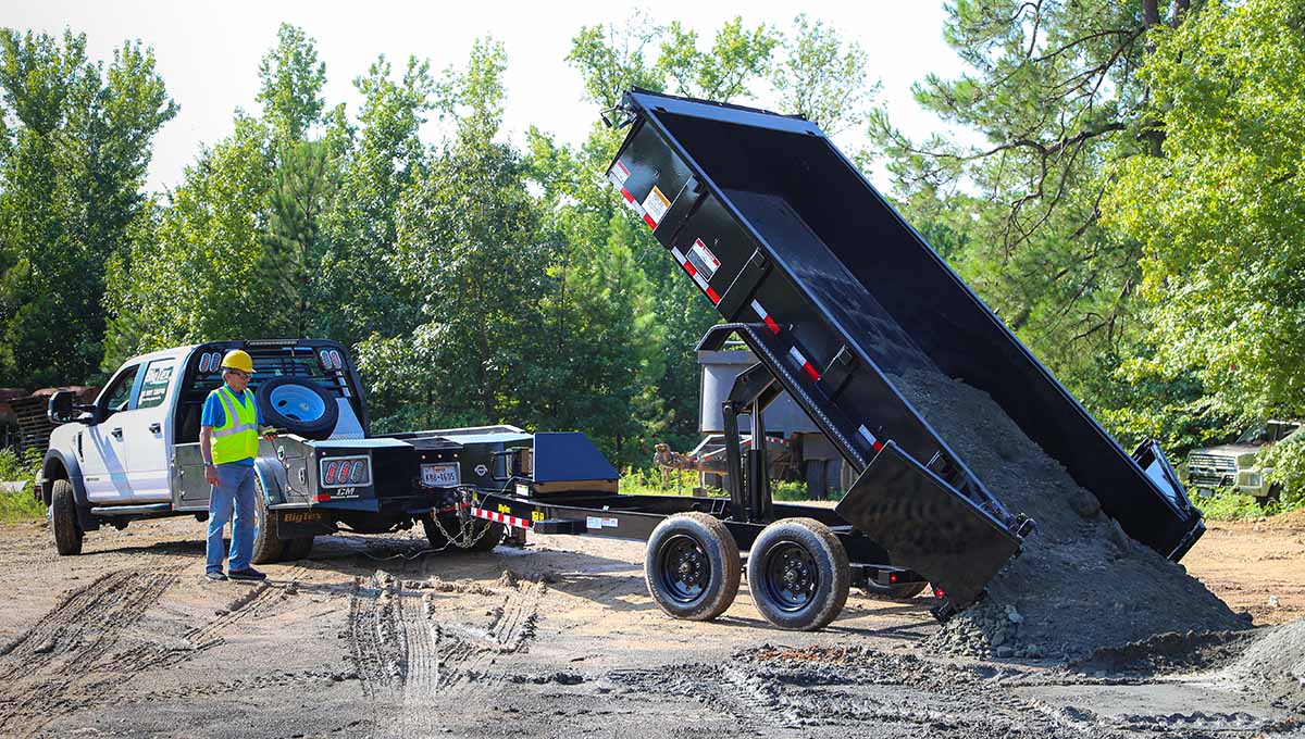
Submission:
{"label": "bright white sky above the treetops", "polygon": [[[743,16],[745,25],[770,23],[788,29],[801,10],[857,42],[869,56],[867,76],[882,82],[880,99],[898,128],[923,137],[941,128],[911,96],[911,85],[928,73],[945,77],[963,66],[942,40],[945,13],[941,3],[861,0],[860,3],[808,1],[801,5],[773,0],[702,3],[663,0],[656,4],[622,3],[398,3],[368,0],[227,0],[184,3],[144,0],[3,0],[0,26],[61,33],[85,33],[93,59],[111,60],[127,39],[154,48],[158,70],[180,106],[175,119],[155,138],[149,188],[175,188],[201,145],[231,132],[238,107],[257,109],[258,60],[275,44],[277,27],[290,22],[317,43],[326,64],[328,107],[338,102],[356,113],[360,96],[352,80],[384,53],[401,72],[408,55],[429,59],[432,70],[466,64],[471,43],[491,35],[508,52],[504,112],[505,134],[523,141],[536,125],[562,142],[583,139],[598,108],[583,99],[579,74],[566,61],[570,39],[581,26],[624,25],[638,7],[658,23],[680,21],[697,30],[706,47],[722,23]],[[780,111],[786,112],[786,111]],[[835,141],[855,146],[859,132]],[[882,171],[870,173],[880,188]]]}

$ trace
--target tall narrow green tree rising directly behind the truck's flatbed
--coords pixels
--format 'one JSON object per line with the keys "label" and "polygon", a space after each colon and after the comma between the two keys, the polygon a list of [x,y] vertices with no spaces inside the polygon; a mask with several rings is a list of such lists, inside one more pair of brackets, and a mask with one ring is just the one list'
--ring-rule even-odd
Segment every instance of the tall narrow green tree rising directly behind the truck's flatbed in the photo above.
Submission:
{"label": "tall narrow green tree rising directly behind the truck's flatbed", "polygon": [[359,345],[382,425],[538,418],[539,301],[549,245],[519,155],[495,141],[502,121],[501,44],[480,40],[450,70],[440,109],[454,133],[405,190],[388,263],[420,295],[418,326]]}

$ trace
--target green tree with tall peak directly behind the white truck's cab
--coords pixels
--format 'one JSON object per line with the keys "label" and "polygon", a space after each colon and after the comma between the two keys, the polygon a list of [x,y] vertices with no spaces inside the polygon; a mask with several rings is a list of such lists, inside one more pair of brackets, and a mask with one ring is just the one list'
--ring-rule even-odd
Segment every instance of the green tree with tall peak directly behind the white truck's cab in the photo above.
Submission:
{"label": "green tree with tall peak directly behind the white truck's cab", "polygon": [[260,64],[261,116],[238,109],[231,136],[168,193],[158,240],[112,265],[106,365],[185,341],[316,332],[320,291],[304,278],[326,250],[334,160],[329,143],[304,137],[321,117],[324,83],[312,39],[282,26]]}

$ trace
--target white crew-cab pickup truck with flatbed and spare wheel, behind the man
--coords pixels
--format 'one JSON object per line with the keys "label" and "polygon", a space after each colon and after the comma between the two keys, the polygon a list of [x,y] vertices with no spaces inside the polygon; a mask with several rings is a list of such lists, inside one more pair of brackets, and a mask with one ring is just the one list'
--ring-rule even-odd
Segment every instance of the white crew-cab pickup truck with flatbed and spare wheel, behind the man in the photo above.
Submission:
{"label": "white crew-cab pickup truck with flatbed and spare wheel, behind the man", "polygon": [[[457,491],[501,487],[510,477],[505,450],[531,446],[532,435],[487,426],[373,437],[345,348],[296,339],[153,352],[125,362],[93,404],[74,404],[70,392],[52,396],[50,417],[61,425],[50,437],[35,495],[48,506],[60,554],[80,554],[85,534],[104,524],[207,519],[200,414],[231,349],[253,357],[249,387],[264,421],[282,430],[275,442],[260,442],[254,464],[256,563],[307,557],[315,536],[342,528],[384,533],[416,521],[437,547],[499,543],[500,524],[459,517]],[[204,536],[198,527],[196,536]]]}

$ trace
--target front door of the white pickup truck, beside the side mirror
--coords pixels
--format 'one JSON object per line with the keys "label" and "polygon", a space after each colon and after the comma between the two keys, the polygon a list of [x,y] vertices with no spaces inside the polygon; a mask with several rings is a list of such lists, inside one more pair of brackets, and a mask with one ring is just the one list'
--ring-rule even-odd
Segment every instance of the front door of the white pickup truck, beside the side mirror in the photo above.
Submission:
{"label": "front door of the white pickup truck, beside the side mirror", "polygon": [[130,365],[117,370],[95,400],[95,417],[102,421],[82,431],[82,482],[86,485],[86,498],[93,503],[132,500],[121,414],[130,407],[140,369],[141,365]]}

